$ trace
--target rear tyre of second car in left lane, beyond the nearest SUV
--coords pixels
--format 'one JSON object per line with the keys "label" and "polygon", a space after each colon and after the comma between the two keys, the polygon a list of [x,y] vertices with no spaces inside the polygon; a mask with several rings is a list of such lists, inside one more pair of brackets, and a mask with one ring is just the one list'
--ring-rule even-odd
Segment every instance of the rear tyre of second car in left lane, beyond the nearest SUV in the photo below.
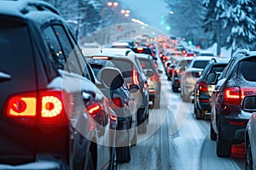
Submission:
{"label": "rear tyre of second car in left lane, beyond the nearest SUV", "polygon": [[131,146],[116,148],[117,162],[124,163],[131,161]]}

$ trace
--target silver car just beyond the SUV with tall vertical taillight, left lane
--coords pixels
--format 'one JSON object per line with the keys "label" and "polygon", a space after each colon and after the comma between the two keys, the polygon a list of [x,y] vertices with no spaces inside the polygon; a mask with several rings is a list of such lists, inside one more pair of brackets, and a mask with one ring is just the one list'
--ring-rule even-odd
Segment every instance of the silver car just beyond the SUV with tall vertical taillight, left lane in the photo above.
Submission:
{"label": "silver car just beyond the SUV with tall vertical taillight, left lane", "polygon": [[[153,107],[155,109],[160,108],[160,90],[161,90],[161,81],[160,75],[163,73],[160,69],[156,70],[152,59],[148,58],[148,55],[137,55],[138,59],[143,67],[143,71],[147,75],[147,71],[153,71],[153,76],[148,77],[148,91],[149,91],[149,100],[153,102]],[[152,108],[153,108],[152,107]]]}

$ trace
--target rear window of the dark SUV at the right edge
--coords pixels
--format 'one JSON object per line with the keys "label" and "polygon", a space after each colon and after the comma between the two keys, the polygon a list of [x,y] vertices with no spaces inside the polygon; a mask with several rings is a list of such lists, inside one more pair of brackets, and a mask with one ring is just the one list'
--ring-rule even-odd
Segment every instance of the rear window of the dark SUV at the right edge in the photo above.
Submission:
{"label": "rear window of the dark SUV at the right edge", "polygon": [[254,72],[256,68],[256,57],[250,60],[243,60],[239,65],[239,72],[241,75],[250,82],[256,81],[256,74]]}

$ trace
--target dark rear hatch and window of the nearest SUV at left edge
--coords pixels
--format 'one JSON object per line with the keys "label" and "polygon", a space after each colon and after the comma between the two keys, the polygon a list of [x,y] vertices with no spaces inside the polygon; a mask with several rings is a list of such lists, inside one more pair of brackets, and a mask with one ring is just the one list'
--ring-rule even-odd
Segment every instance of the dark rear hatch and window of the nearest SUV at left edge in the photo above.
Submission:
{"label": "dark rear hatch and window of the nearest SUV at left edge", "polygon": [[37,84],[27,26],[15,20],[0,20],[0,163],[15,164],[19,163],[15,158],[22,162],[34,156],[36,131],[26,116],[21,119],[7,115],[8,100],[17,94],[36,92]]}

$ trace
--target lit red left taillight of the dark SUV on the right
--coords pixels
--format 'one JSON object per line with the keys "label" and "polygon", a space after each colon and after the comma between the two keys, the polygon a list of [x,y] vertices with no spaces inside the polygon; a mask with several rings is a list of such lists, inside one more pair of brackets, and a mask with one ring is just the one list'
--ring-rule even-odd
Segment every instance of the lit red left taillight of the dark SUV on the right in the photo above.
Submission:
{"label": "lit red left taillight of the dark SUV on the right", "polygon": [[226,88],[224,90],[224,103],[231,105],[240,105],[241,96],[240,96],[240,88]]}

